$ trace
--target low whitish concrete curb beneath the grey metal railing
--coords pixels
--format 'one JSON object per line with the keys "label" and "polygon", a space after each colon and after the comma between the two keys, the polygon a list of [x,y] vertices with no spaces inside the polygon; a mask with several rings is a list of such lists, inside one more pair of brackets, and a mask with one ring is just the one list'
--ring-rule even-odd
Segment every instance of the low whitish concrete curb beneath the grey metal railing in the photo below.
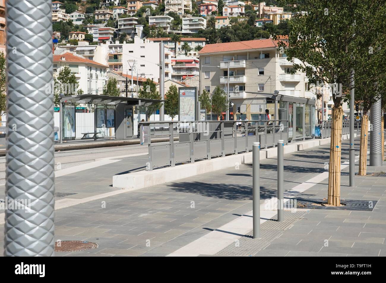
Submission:
{"label": "low whitish concrete curb beneath the grey metal railing", "polygon": [[[342,139],[349,138],[343,135]],[[321,140],[307,140],[297,143],[290,143],[284,146],[284,154],[305,150],[330,143],[330,138]],[[276,148],[267,148],[260,151],[260,160],[276,157]],[[228,155],[226,157],[213,158],[195,163],[177,165],[176,167],[160,168],[153,171],[141,171],[113,176],[113,187],[119,189],[142,189],[149,186],[159,185],[167,182],[174,182],[179,179],[196,176],[230,167],[237,167],[240,164],[252,163],[252,152]]]}

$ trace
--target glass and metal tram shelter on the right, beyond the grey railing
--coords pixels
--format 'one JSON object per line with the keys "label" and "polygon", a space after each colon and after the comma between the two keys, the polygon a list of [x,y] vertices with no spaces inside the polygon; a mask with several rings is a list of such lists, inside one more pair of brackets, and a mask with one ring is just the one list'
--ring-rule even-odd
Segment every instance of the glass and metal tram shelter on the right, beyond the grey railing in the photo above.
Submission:
{"label": "glass and metal tram shelter on the right, beyond the grey railing", "polygon": [[[315,137],[315,98],[301,98],[285,94],[249,92],[256,94],[256,97],[246,98],[244,100],[257,100],[257,103],[263,105],[264,109],[272,109],[274,119],[288,120],[288,140],[305,140]],[[264,114],[262,114],[264,115]],[[263,117],[256,117],[252,120],[265,120]]]}

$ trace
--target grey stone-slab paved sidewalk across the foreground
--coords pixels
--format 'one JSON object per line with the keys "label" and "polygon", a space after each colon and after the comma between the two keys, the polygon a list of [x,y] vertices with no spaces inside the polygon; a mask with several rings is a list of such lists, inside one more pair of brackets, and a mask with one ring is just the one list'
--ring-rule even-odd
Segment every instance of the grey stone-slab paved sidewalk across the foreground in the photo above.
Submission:
{"label": "grey stone-slab paved sidewalk across the foreground", "polygon": [[[358,142],[359,138],[356,139],[356,143]],[[329,146],[325,145],[286,154],[284,156],[284,190],[288,191],[326,172],[325,162],[328,162],[328,151]],[[347,159],[348,141],[343,141],[342,162]],[[138,165],[143,164],[140,158],[137,161]],[[74,175],[66,175],[67,177],[56,178],[60,181],[57,181],[57,191],[79,190],[81,194],[87,194],[87,191],[93,194],[98,190],[104,192],[109,182],[111,184],[111,176],[116,174],[114,170],[117,170],[117,165],[120,166],[120,172],[125,171],[124,160],[110,165],[102,169],[96,167]],[[380,172],[384,168],[386,167],[368,167],[368,171]],[[299,210],[293,222],[289,224],[290,229],[289,226],[282,227],[281,231],[279,230],[281,236],[276,235],[264,246],[260,244],[260,248],[251,249],[251,254],[248,255],[296,255],[296,253],[335,255],[339,248],[342,248],[339,251],[342,255],[384,254],[384,242],[380,239],[384,239],[386,235],[386,223],[383,221],[386,218],[383,196],[386,178],[356,177],[357,186],[350,188],[347,184],[347,170],[348,167],[342,172],[342,199],[378,200],[373,212],[318,209],[307,213]],[[82,174],[84,174],[83,177],[92,174],[95,182],[88,181],[90,183],[86,186],[80,183]],[[186,178],[178,183],[157,185],[59,209],[55,211],[56,240],[91,241],[97,243],[98,248],[80,252],[57,252],[56,255],[166,256],[230,221],[245,217],[243,215],[252,209],[251,174],[251,165],[240,165],[239,169],[228,168]],[[110,179],[106,177],[108,175]],[[275,158],[261,160],[260,177],[261,204],[263,204],[264,199],[276,196]],[[110,190],[116,189],[110,187]],[[313,199],[322,199],[326,196],[327,180],[323,180],[301,194],[302,198]],[[288,212],[286,216],[287,214]],[[286,218],[289,220],[294,215]],[[267,220],[265,223],[267,222],[278,223],[272,220]],[[267,225],[265,223],[263,225]],[[0,229],[3,231],[3,226]],[[226,232],[224,231],[223,234],[227,234]],[[244,235],[240,235],[239,238],[238,248],[242,246],[245,248],[248,243],[243,244],[244,239],[250,238]],[[328,247],[324,246],[326,239]],[[349,246],[350,243],[351,246]],[[364,247],[365,244],[366,247]],[[2,246],[1,244],[1,248]],[[375,254],[377,251],[378,254]],[[228,252],[220,249],[218,255],[245,256],[245,249],[243,253],[239,253],[237,249],[230,251],[230,254]]]}

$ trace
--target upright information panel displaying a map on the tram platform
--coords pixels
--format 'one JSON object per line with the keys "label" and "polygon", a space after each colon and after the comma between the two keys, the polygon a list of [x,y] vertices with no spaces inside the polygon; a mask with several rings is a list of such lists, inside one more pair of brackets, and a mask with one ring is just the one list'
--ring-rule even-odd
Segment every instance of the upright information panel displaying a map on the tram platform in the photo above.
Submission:
{"label": "upright information panel displaying a map on the tram platform", "polygon": [[196,120],[197,88],[178,88],[178,119]]}

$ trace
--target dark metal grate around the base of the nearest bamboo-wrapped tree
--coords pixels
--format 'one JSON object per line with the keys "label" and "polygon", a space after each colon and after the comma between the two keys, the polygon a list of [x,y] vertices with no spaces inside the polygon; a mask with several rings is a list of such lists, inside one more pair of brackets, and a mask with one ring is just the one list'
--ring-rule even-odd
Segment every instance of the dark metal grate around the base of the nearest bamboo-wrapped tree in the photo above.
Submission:
{"label": "dark metal grate around the base of the nearest bamboo-wrapped tree", "polygon": [[[332,210],[359,210],[372,211],[377,204],[377,200],[356,200],[356,199],[342,199],[340,200],[343,206],[322,206],[326,203],[322,199],[296,199],[298,208],[305,209],[332,209]],[[316,205],[315,205],[316,204]]]}

